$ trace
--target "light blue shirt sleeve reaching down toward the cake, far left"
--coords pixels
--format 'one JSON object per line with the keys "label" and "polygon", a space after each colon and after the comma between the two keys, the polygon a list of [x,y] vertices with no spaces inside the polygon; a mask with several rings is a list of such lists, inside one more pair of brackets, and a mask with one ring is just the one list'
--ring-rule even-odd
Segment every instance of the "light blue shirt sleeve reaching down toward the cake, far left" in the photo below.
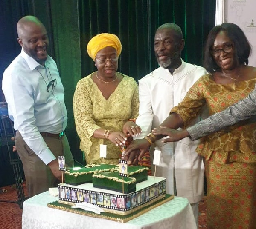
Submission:
{"label": "light blue shirt sleeve reaching down toward the cake, far left", "polygon": [[3,92],[8,103],[9,117],[15,122],[26,144],[45,163],[55,160],[38,131],[34,116],[34,88],[26,76],[4,73]]}

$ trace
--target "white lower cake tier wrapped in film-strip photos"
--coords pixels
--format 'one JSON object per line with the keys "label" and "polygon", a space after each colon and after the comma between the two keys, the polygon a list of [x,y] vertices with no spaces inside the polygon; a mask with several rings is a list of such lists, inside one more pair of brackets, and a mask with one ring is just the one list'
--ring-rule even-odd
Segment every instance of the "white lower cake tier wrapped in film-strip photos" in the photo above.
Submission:
{"label": "white lower cake tier wrapped in film-strip photos", "polygon": [[60,203],[75,205],[88,202],[103,208],[105,212],[128,215],[162,199],[166,194],[166,179],[148,176],[148,180],[136,184],[135,192],[128,194],[99,189],[93,187],[92,183],[78,186],[62,183],[58,188]]}

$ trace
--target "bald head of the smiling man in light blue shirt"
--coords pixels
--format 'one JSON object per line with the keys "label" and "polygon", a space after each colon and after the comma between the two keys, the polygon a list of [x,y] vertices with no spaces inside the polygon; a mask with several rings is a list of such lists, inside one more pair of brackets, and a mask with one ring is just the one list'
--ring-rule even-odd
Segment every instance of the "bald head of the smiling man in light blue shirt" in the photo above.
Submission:
{"label": "bald head of the smiling man in light blue shirt", "polygon": [[24,52],[44,65],[49,40],[43,23],[34,16],[22,17],[17,23],[17,33],[18,43]]}

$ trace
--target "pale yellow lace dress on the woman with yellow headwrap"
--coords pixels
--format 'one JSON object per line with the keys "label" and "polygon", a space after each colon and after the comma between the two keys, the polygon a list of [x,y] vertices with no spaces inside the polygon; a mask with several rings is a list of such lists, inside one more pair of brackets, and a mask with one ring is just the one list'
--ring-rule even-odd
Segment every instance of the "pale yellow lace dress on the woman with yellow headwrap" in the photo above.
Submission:
{"label": "pale yellow lace dress on the woman with yellow headwrap", "polygon": [[[92,73],[93,74],[93,73]],[[123,75],[116,90],[106,100],[93,82],[91,75],[79,80],[73,98],[76,131],[81,139],[80,149],[87,163],[103,163],[99,156],[99,145],[107,145],[104,163],[117,164],[120,147],[108,139],[92,137],[96,129],[122,131],[129,119],[135,119],[139,112],[139,93],[136,81]]]}

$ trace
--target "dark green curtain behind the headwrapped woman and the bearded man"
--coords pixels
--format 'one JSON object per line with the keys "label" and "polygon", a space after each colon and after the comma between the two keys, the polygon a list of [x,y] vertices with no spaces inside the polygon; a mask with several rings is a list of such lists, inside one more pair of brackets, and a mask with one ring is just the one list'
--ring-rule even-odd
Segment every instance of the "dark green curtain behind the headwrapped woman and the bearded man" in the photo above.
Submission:
{"label": "dark green curtain behind the headwrapped woman and the bearded man", "polygon": [[215,23],[215,0],[79,0],[82,77],[96,70],[86,46],[102,32],[119,36],[119,72],[139,80],[157,68],[154,33],[163,23],[176,23],[186,42],[183,60],[202,65],[204,40]]}

